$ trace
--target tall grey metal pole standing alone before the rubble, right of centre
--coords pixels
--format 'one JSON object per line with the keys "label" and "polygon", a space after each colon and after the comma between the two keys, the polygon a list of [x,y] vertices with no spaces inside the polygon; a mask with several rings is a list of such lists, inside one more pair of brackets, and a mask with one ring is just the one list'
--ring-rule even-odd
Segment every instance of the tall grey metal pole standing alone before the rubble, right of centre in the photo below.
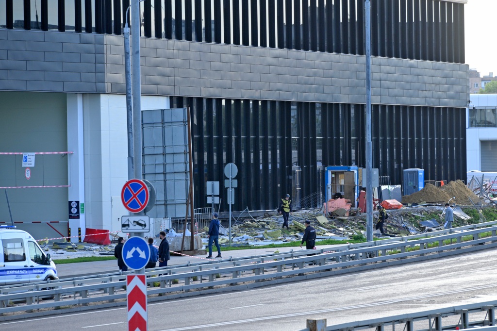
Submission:
{"label": "tall grey metal pole standing alone before the rubble, right of centre", "polygon": [[366,239],[373,241],[373,150],[371,144],[371,1],[364,3],[366,36]]}

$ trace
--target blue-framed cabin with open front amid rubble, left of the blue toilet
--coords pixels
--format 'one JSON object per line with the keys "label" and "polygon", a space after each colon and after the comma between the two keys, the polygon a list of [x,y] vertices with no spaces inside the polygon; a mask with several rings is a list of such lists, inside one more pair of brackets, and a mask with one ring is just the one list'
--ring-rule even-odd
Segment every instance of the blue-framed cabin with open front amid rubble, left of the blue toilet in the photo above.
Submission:
{"label": "blue-framed cabin with open front amid rubble, left of the blue toilet", "polygon": [[[352,179],[349,179],[352,178]],[[359,167],[356,165],[329,165],[325,167],[326,201],[340,192],[355,207],[359,194]]]}

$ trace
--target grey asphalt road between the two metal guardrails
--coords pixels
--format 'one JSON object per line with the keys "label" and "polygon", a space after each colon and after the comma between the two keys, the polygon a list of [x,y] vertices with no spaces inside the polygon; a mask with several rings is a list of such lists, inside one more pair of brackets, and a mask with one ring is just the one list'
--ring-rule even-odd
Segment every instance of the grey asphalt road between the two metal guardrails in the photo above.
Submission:
{"label": "grey asphalt road between the two metal guardrails", "polygon": [[[496,249],[313,281],[149,304],[149,331],[302,330],[497,300]],[[127,330],[126,308],[0,323],[1,331]]]}

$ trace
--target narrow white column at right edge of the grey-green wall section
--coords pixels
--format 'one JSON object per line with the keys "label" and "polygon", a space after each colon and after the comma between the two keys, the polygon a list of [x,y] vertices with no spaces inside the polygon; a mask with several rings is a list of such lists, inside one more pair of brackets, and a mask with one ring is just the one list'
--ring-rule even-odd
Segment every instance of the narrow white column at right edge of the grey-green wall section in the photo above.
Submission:
{"label": "narrow white column at right edge of the grey-green wall section", "polygon": [[[81,229],[81,240],[85,234],[84,206],[84,153],[83,153],[83,94],[67,94],[67,148],[73,152],[69,155],[68,176],[68,212],[73,201],[77,202],[79,218],[69,218],[71,242],[77,243]],[[68,217],[70,217],[68,215]]]}

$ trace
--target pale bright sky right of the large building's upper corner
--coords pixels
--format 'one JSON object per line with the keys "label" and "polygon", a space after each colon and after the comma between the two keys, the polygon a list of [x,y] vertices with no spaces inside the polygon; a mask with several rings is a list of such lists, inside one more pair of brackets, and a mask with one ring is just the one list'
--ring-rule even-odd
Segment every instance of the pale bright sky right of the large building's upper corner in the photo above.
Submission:
{"label": "pale bright sky right of the large building's upper corner", "polygon": [[497,0],[468,0],[464,5],[466,63],[480,74],[497,76]]}

